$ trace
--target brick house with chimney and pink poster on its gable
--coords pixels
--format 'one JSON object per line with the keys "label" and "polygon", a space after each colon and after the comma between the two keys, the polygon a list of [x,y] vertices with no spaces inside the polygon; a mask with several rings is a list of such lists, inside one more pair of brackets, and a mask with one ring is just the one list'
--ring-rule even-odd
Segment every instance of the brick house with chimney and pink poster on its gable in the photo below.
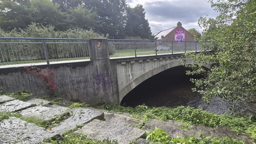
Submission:
{"label": "brick house with chimney and pink poster on its gable", "polygon": [[186,31],[181,22],[177,23],[177,26],[169,28],[167,30],[162,30],[153,36],[157,37],[158,40],[181,40],[181,41],[194,41],[194,36],[192,36],[188,31]]}

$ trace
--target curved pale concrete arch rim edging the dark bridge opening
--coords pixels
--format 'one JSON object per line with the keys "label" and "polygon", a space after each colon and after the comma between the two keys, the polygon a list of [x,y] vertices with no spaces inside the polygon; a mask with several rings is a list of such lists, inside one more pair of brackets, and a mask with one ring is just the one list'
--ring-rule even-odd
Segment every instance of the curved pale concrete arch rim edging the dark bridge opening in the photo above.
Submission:
{"label": "curved pale concrete arch rim edging the dark bridge opening", "polygon": [[[197,64],[193,59],[190,58],[182,58],[183,61],[185,61],[188,64]],[[148,63],[150,65],[150,63]],[[122,99],[130,92],[132,89],[140,85],[140,83],[144,82],[146,79],[161,73],[162,71],[165,71],[167,69],[170,69],[172,67],[177,67],[182,65],[180,59],[172,59],[171,61],[168,61],[167,63],[157,65],[156,67],[153,67],[152,69],[148,71],[142,71],[142,73],[135,77],[134,79],[131,79],[124,87],[122,87],[119,90],[119,103],[121,103]],[[210,69],[211,66],[209,64],[204,65],[204,67]]]}

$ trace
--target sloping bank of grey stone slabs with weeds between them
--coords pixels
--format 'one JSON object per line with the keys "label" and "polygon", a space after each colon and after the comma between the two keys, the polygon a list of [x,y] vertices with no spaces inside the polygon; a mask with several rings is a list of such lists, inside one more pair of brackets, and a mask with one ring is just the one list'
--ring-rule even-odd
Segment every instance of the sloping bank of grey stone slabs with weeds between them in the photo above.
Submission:
{"label": "sloping bank of grey stone slabs with weeds between them", "polygon": [[[69,102],[65,102],[67,105]],[[57,103],[56,103],[57,104]],[[97,109],[92,107],[62,107],[60,105],[52,105],[52,102],[43,99],[32,98],[26,101],[19,101],[9,96],[0,96],[0,112],[12,112],[20,114],[17,116],[10,116],[0,121],[0,143],[1,144],[31,144],[46,142],[60,142],[58,139],[65,138],[74,134],[80,134],[80,137],[91,138],[105,143],[128,144],[136,143],[142,144],[146,142],[145,130],[153,131],[155,127],[163,129],[169,136],[196,136],[200,137],[202,133],[205,136],[228,136],[244,140],[251,144],[253,139],[250,136],[240,133],[237,135],[226,126],[218,126],[217,128],[210,128],[206,126],[188,125],[186,122],[177,122],[174,120],[159,120],[150,118],[144,113],[128,114],[114,112],[110,109],[114,107],[123,108],[123,110],[130,110],[117,105],[98,105]],[[63,104],[63,102],[62,102]],[[78,105],[78,103],[76,103]],[[107,110],[108,107],[109,109]],[[146,106],[140,106],[141,110],[148,112]],[[138,108],[136,109],[137,112]],[[152,111],[152,115],[156,111]],[[122,113],[122,114],[121,114]],[[132,115],[132,116],[130,116]],[[160,113],[159,113],[160,115]],[[142,117],[141,117],[142,116]],[[144,116],[144,117],[143,117]],[[28,120],[30,119],[30,122]],[[33,120],[31,120],[33,119]],[[34,124],[46,123],[47,125],[40,127]],[[49,122],[50,121],[50,122]],[[79,137],[79,136],[78,136]],[[45,140],[48,139],[48,141]],[[103,142],[104,143],[104,142]]]}

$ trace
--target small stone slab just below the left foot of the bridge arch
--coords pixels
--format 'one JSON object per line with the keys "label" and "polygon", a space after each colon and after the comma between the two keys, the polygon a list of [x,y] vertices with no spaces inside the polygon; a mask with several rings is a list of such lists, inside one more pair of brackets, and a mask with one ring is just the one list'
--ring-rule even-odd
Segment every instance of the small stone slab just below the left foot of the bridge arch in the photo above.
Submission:
{"label": "small stone slab just below the left foot of the bridge arch", "polygon": [[136,127],[136,125],[143,122],[140,119],[131,118],[129,116],[124,116],[121,114],[108,113],[108,112],[104,112],[104,118],[105,118],[106,122],[110,122],[113,124],[119,124],[119,125],[123,125],[123,126]]}

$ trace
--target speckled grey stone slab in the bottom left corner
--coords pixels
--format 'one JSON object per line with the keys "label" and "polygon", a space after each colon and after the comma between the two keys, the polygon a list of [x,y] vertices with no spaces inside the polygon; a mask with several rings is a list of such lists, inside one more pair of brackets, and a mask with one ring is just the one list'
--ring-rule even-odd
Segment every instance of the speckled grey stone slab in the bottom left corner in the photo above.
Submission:
{"label": "speckled grey stone slab in the bottom left corner", "polygon": [[16,117],[0,121],[0,144],[36,144],[50,136],[45,128]]}

